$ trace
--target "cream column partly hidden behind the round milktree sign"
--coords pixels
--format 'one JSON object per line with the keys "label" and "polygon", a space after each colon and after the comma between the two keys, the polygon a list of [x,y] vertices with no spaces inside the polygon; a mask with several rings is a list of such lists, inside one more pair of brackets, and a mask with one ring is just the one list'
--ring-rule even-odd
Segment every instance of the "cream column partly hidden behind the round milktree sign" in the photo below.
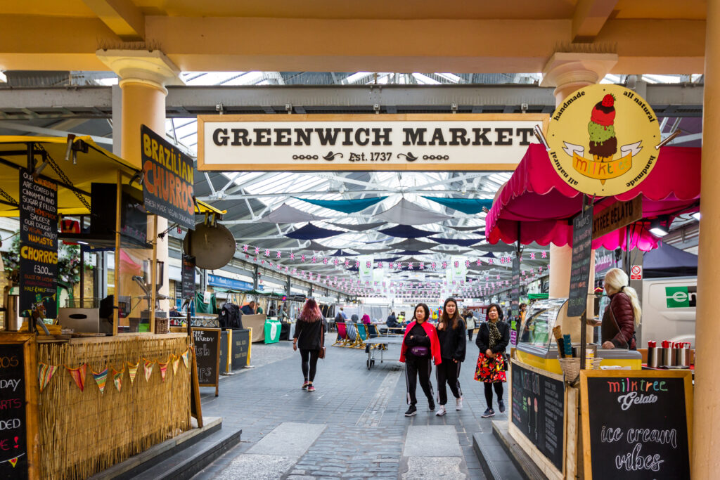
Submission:
{"label": "cream column partly hidden behind the round milktree sign", "polygon": [[[554,53],[543,69],[541,86],[554,86],[555,105],[585,86],[602,80],[618,61],[614,53]],[[590,279],[595,277],[595,254],[590,255]],[[551,299],[570,294],[570,261],[572,248],[567,245],[550,245]],[[592,283],[589,289],[592,289]],[[588,298],[588,312],[592,312]]]}

